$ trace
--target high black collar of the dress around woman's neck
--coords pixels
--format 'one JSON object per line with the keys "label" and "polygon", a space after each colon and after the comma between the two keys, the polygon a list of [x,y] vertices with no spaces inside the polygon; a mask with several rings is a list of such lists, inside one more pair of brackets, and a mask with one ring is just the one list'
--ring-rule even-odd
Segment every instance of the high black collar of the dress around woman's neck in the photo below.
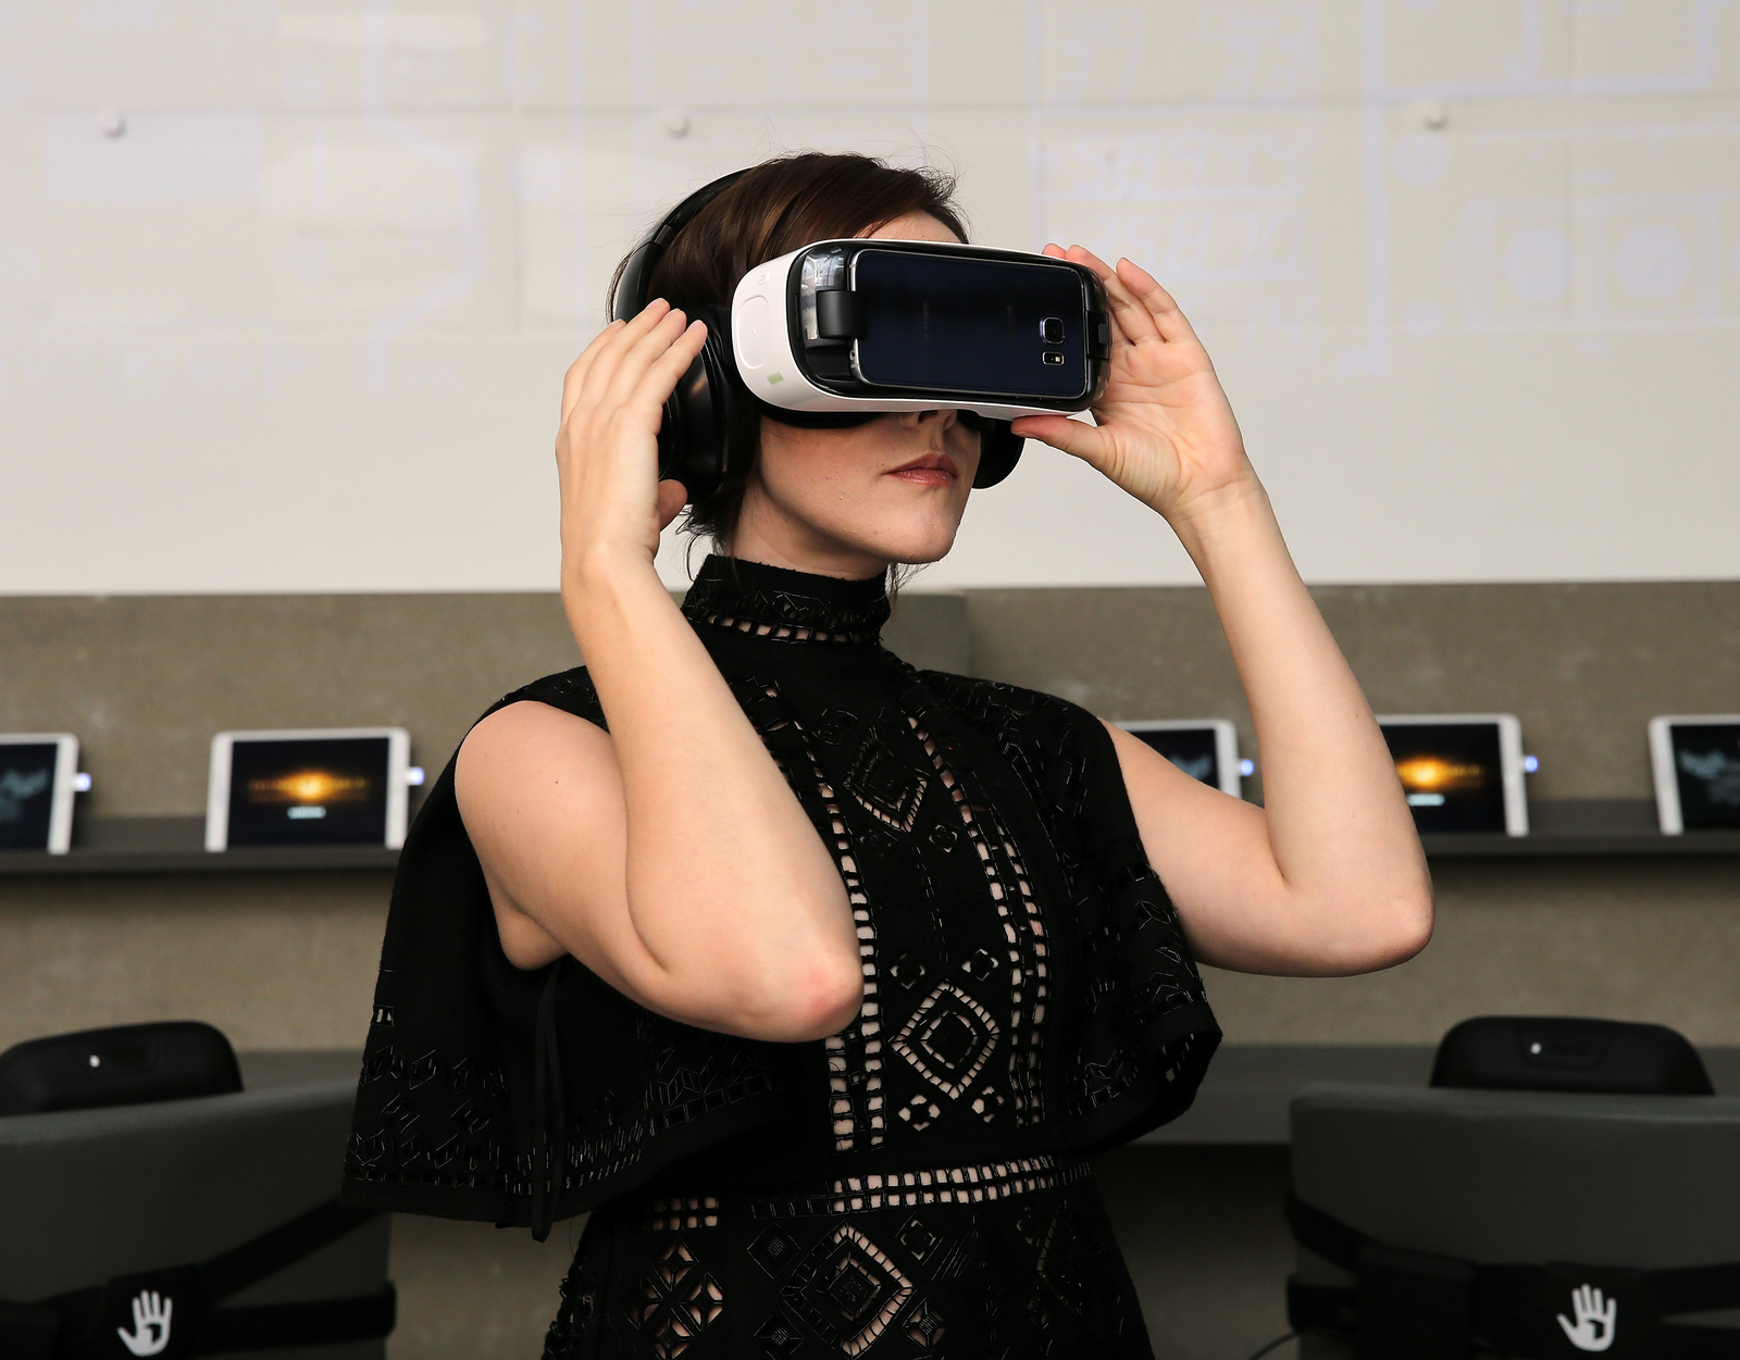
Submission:
{"label": "high black collar of the dress around woman's neck", "polygon": [[713,553],[689,586],[682,612],[691,623],[776,642],[873,643],[887,623],[887,574],[842,581]]}

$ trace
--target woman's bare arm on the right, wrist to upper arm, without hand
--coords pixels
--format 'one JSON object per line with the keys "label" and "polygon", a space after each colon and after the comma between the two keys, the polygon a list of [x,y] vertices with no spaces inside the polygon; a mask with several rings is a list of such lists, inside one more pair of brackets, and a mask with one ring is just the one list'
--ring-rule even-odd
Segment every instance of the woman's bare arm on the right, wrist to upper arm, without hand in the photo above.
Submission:
{"label": "woman's bare arm on the right, wrist to upper arm, without hand", "polygon": [[1181,529],[1244,680],[1265,807],[1112,729],[1148,859],[1197,957],[1244,972],[1352,974],[1432,934],[1432,887],[1383,736],[1305,591],[1268,499]]}

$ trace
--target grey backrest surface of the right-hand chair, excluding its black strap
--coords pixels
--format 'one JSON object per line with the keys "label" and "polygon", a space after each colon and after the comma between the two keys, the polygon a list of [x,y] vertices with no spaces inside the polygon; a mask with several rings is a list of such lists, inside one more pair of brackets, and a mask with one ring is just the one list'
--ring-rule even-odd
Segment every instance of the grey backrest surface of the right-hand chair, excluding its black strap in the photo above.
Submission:
{"label": "grey backrest surface of the right-hand chair, excluding its black strap", "polygon": [[[1477,1266],[1740,1263],[1740,1097],[1310,1085],[1293,1193],[1383,1247]],[[1303,1247],[1296,1278],[1354,1285]]]}

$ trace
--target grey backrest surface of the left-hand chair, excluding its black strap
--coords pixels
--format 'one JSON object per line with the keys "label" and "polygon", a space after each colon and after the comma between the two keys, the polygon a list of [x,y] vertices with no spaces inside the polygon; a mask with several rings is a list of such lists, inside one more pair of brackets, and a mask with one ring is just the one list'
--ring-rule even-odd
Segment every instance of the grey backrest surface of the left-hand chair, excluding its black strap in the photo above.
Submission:
{"label": "grey backrest surface of the left-hand chair, excluding its black strap", "polygon": [[[0,1118],[0,1299],[35,1303],[113,1277],[211,1261],[339,1190],[353,1080]],[[226,1299],[376,1296],[388,1219],[374,1217]],[[381,1341],[273,1351],[379,1360]]]}

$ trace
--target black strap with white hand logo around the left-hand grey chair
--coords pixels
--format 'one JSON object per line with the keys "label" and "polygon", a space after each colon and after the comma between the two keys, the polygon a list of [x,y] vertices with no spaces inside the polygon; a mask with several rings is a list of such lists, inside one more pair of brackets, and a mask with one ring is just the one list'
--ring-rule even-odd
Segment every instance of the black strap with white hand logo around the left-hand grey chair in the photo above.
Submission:
{"label": "black strap with white hand logo around the left-hand grey chair", "polygon": [[327,1200],[200,1264],[117,1275],[31,1304],[0,1301],[0,1355],[110,1360],[130,1353],[177,1360],[383,1337],[397,1317],[390,1283],[350,1299],[216,1306],[372,1217],[376,1210]]}

